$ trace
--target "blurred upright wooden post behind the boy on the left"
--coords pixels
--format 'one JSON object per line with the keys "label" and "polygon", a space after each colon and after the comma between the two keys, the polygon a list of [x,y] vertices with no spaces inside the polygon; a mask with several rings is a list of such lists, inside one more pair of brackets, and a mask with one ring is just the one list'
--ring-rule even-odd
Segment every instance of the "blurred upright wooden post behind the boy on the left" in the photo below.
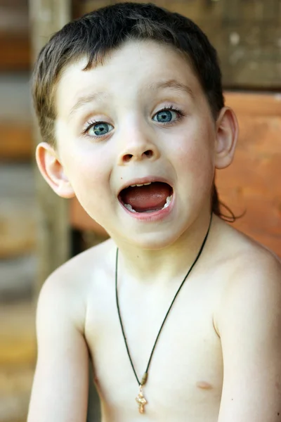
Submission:
{"label": "blurred upright wooden post behind the boy on the left", "polygon": [[[35,60],[53,32],[71,19],[71,0],[30,0],[32,56]],[[34,141],[41,139],[34,122]],[[39,205],[38,274],[35,296],[51,272],[70,257],[68,203],[53,193],[35,170]]]}

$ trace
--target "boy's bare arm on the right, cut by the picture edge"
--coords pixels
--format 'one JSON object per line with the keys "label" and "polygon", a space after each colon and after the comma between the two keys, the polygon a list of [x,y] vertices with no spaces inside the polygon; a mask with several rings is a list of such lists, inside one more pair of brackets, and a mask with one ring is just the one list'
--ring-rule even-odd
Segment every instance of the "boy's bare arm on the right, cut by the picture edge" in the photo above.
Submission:
{"label": "boy's bare arm on the right, cut by the picture edge", "polygon": [[233,281],[218,316],[224,373],[218,422],[280,422],[280,264],[272,257],[245,260]]}

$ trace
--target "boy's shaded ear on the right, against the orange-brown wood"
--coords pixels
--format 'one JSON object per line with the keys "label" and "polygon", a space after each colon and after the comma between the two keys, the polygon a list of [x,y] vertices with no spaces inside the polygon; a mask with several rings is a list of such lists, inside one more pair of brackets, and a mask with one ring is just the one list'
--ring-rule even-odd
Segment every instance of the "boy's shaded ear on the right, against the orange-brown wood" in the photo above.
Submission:
{"label": "boy's shaded ear on the right, against the orange-brown wood", "polygon": [[224,107],[216,121],[216,156],[217,169],[228,167],[233,161],[239,128],[237,117],[229,107]]}

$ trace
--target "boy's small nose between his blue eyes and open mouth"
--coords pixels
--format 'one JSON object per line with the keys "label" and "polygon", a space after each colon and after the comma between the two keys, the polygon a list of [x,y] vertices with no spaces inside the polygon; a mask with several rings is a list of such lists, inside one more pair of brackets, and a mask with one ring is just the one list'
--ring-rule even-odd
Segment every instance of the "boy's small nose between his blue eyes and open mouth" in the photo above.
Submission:
{"label": "boy's small nose between his blue eyes and open mouth", "polygon": [[140,127],[131,127],[127,128],[121,136],[122,150],[118,158],[119,165],[159,158],[159,150],[155,142],[152,141],[152,134],[148,134],[148,131],[144,131]]}

